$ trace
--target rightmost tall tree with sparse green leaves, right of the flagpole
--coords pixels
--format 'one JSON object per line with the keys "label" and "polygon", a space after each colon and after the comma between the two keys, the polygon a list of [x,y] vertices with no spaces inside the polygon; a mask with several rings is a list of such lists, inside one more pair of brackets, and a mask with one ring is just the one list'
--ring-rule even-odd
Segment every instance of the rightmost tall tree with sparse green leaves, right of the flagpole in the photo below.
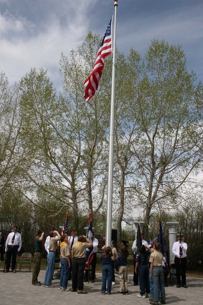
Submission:
{"label": "rightmost tall tree with sparse green leaves, right of the flagpole", "polygon": [[179,45],[154,40],[143,62],[131,50],[129,64],[131,112],[138,127],[133,149],[140,165],[134,189],[145,209],[147,235],[152,209],[166,198],[173,201],[202,162],[202,85],[195,85]]}

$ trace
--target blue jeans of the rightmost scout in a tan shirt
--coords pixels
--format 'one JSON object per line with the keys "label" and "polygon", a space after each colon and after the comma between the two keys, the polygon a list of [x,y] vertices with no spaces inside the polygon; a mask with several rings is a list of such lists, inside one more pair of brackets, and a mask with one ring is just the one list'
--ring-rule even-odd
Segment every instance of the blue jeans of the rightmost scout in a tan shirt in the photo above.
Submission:
{"label": "blue jeans of the rightmost scout in a tan shirt", "polygon": [[165,301],[164,276],[162,267],[154,267],[152,270],[152,278],[154,283],[154,301],[159,301],[161,292],[161,300]]}

